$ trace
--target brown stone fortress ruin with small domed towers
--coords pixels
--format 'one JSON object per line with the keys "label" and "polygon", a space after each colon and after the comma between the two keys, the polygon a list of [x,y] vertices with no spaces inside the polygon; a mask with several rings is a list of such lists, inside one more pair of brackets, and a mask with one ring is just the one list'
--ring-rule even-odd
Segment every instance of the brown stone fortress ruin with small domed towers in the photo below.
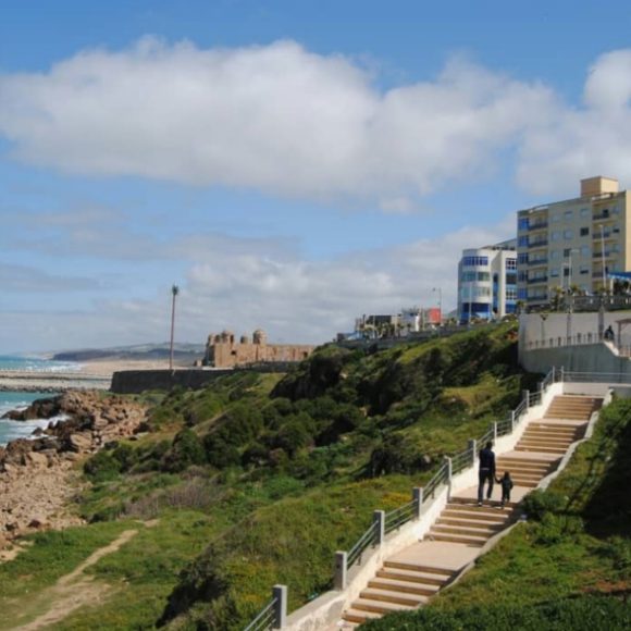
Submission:
{"label": "brown stone fortress ruin with small domed towers", "polygon": [[256,363],[297,362],[307,359],[313,348],[299,344],[268,344],[268,336],[261,329],[252,333],[251,342],[247,335],[242,335],[236,342],[234,333],[224,331],[208,336],[202,363],[214,368],[234,368]]}

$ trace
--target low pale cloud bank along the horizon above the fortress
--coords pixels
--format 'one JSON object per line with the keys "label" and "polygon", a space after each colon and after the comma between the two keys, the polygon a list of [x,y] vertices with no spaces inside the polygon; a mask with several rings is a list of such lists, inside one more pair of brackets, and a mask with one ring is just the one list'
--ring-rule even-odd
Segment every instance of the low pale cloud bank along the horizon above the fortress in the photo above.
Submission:
{"label": "low pale cloud bank along the horizon above the fortress", "polygon": [[[467,226],[324,262],[305,261],[283,243],[215,237],[180,283],[176,338],[202,343],[226,327],[240,334],[262,326],[272,341],[322,343],[351,331],[362,313],[436,305],[433,287],[443,289],[445,308],[453,307],[461,250],[506,238],[514,224],[509,215],[490,230]],[[0,327],[0,349],[5,350],[121,346],[169,336],[166,281],[154,299],[99,300],[81,312],[17,312],[9,305]]]}

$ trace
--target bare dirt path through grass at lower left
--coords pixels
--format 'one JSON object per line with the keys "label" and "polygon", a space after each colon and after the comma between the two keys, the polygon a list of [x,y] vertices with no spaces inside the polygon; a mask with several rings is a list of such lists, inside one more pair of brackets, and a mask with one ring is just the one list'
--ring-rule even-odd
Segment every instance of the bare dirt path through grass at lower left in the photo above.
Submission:
{"label": "bare dirt path through grass at lower left", "polygon": [[125,530],[111,544],[92,553],[83,564],[78,565],[70,574],[61,577],[48,590],[39,594],[32,603],[33,608],[48,610],[38,616],[33,622],[15,627],[15,631],[35,631],[45,629],[63,620],[66,616],[83,605],[100,603],[111,590],[107,583],[96,582],[94,577],[85,576],[84,571],[94,566],[104,556],[115,553],[132,537],[138,534],[137,530]]}

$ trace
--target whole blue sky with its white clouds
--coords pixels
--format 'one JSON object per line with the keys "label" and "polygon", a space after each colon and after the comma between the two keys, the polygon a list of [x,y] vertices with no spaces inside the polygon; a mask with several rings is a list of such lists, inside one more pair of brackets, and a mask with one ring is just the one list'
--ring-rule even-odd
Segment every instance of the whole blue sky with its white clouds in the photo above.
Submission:
{"label": "whole blue sky with its white clouds", "polygon": [[0,20],[0,354],[322,343],[456,305],[517,210],[631,185],[631,7],[25,0]]}

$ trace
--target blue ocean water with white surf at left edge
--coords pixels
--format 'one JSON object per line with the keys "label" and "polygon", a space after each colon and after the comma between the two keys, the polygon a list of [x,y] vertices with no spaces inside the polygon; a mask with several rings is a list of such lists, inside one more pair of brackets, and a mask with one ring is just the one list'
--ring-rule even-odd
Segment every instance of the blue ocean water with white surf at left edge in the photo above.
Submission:
{"label": "blue ocean water with white surf at left edge", "polygon": [[[2,370],[24,370],[33,372],[64,372],[76,371],[78,364],[51,361],[36,357],[9,357],[0,356],[0,371]],[[54,396],[51,393],[33,392],[0,392],[0,417],[9,410],[24,408],[35,399]],[[0,419],[0,446],[5,445],[15,438],[28,438],[36,428],[46,428],[49,420],[33,421],[10,421]]]}

